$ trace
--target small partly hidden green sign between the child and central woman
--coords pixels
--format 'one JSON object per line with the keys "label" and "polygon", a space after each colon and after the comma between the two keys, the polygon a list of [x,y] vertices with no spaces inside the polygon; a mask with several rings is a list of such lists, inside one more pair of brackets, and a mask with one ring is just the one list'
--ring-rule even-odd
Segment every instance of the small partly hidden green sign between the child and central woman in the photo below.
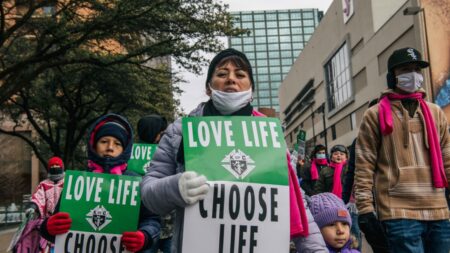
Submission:
{"label": "small partly hidden green sign between the child and central woman", "polygon": [[150,167],[150,161],[156,152],[156,144],[133,144],[130,160],[128,160],[127,170],[134,171],[139,175],[145,175]]}

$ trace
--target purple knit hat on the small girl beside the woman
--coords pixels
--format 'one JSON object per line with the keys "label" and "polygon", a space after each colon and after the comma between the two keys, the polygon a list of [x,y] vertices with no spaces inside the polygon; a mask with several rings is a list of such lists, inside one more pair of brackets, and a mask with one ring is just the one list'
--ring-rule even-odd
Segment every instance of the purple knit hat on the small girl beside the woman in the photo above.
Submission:
{"label": "purple knit hat on the small girl beside the woman", "polygon": [[344,202],[331,192],[312,196],[309,209],[319,228],[336,221],[347,222],[352,226],[352,219]]}

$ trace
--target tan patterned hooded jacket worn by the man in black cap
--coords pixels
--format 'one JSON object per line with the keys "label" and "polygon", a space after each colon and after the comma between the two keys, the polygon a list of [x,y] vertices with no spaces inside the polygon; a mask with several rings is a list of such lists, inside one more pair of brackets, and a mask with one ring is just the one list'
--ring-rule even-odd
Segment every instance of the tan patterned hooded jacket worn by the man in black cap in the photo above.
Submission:
{"label": "tan patterned hooded jacket worn by the man in black cap", "polygon": [[[393,91],[388,90],[384,94],[390,92]],[[450,180],[447,120],[437,105],[427,104],[440,137],[444,169],[447,180]],[[412,118],[400,100],[391,101],[391,107],[394,131],[390,135],[381,135],[378,106],[372,106],[365,112],[359,129],[355,170],[355,197],[359,213],[376,211],[380,220],[448,219],[444,189],[432,185],[427,132],[420,106]],[[377,210],[374,210],[374,204]]]}

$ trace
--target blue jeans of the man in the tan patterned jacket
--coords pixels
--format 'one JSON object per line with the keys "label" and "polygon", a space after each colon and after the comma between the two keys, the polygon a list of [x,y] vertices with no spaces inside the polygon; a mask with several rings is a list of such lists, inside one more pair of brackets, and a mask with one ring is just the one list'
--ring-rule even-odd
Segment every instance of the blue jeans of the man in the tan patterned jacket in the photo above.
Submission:
{"label": "blue jeans of the man in the tan patterned jacket", "polygon": [[383,222],[395,253],[449,253],[450,221],[387,220]]}

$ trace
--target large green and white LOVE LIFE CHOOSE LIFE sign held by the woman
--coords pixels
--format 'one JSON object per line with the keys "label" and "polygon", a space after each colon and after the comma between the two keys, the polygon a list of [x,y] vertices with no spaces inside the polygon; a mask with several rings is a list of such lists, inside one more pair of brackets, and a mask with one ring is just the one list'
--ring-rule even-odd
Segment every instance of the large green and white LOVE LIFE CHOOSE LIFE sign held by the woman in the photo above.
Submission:
{"label": "large green and white LOVE LIFE CHOOSE LIFE sign held by the woman", "polygon": [[186,170],[210,191],[185,209],[183,252],[287,252],[289,184],[278,119],[182,120]]}

